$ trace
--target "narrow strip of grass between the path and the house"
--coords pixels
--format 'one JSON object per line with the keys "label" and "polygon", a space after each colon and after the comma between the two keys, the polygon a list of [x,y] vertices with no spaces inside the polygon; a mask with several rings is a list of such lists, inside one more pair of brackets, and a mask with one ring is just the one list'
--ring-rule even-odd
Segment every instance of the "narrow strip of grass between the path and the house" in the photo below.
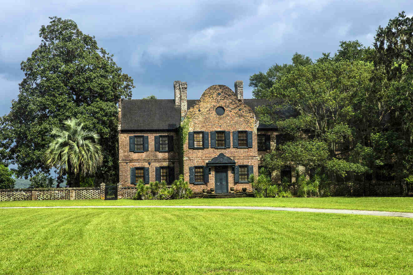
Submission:
{"label": "narrow strip of grass between the path and the house", "polygon": [[222,205],[309,207],[327,209],[413,212],[413,197],[228,198],[189,200],[36,200],[0,202],[0,207],[73,205]]}

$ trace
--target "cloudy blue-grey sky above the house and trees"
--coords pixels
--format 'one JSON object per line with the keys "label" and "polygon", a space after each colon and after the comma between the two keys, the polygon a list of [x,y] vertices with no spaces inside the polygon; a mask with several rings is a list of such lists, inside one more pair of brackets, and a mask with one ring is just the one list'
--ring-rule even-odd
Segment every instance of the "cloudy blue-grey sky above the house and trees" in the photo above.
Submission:
{"label": "cloudy blue-grey sky above the house and trees", "polygon": [[49,16],[73,19],[98,45],[114,54],[134,79],[133,99],[154,94],[173,99],[173,81],[188,82],[188,99],[214,84],[233,89],[294,52],[317,59],[340,40],[371,45],[379,25],[406,1],[2,1],[0,13],[0,115],[9,112],[24,75],[20,63],[40,44]]}

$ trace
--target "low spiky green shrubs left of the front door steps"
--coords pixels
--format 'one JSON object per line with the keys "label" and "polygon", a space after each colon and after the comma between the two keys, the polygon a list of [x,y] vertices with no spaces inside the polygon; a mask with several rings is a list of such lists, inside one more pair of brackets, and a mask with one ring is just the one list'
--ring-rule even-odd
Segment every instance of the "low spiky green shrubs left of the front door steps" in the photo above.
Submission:
{"label": "low spiky green shrubs left of the front door steps", "polygon": [[142,180],[136,185],[134,200],[169,200],[169,199],[188,199],[192,194],[188,181],[184,181],[183,175],[173,181],[171,187],[166,186],[166,182],[151,182],[145,185]]}

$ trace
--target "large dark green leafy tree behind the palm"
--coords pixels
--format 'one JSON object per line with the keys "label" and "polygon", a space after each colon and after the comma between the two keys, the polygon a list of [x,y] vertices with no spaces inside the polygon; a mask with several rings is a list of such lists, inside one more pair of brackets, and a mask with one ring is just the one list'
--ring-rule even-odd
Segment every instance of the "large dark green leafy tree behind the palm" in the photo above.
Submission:
{"label": "large dark green leafy tree behind the palm", "polygon": [[78,118],[86,130],[102,139],[103,165],[97,177],[116,181],[116,105],[121,98],[131,98],[133,79],[74,21],[50,19],[49,25],[40,28],[41,44],[21,63],[25,78],[19,84],[18,99],[0,120],[0,160],[17,164],[17,177],[49,172],[43,162],[52,141],[47,133],[68,118]]}

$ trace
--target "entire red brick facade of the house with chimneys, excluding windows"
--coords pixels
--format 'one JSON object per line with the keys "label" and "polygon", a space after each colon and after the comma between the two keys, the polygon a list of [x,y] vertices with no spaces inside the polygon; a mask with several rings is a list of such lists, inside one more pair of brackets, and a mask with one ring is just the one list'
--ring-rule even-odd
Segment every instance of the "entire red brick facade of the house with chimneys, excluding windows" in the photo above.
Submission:
{"label": "entire red brick facade of the house with chimneys, excluding windows", "polygon": [[[186,136],[183,145],[183,160],[179,160],[178,152],[179,137],[178,129],[175,131],[151,130],[149,131],[131,131],[122,130],[122,103],[119,103],[119,182],[123,186],[131,185],[130,169],[132,167],[149,167],[150,182],[155,181],[155,167],[173,166],[175,167],[175,178],[178,178],[180,162],[183,163],[183,175],[185,181],[190,182],[190,167],[202,166],[209,167],[209,182],[207,183],[190,183],[190,187],[194,193],[202,193],[203,189],[215,188],[215,171],[216,168],[228,171],[228,185],[225,192],[229,192],[230,188],[234,188],[235,192],[241,191],[246,187],[247,192],[252,191],[250,183],[236,183],[234,181],[235,166],[207,165],[214,157],[223,153],[235,161],[235,165],[247,165],[249,169],[253,169],[254,175],[258,176],[258,167],[263,155],[269,151],[258,151],[257,148],[257,128],[259,121],[257,120],[252,108],[244,104],[242,98],[242,82],[235,82],[235,92],[224,85],[213,85],[206,89],[201,98],[195,102],[193,106],[187,109],[187,92],[186,82],[174,82],[175,105],[180,109],[181,121],[189,118],[189,132],[207,132],[208,145],[207,148],[189,148],[188,135]],[[185,101],[185,102],[182,102]],[[223,107],[224,113],[216,113],[217,107]],[[178,109],[178,110],[179,110]],[[160,110],[162,111],[162,110]],[[126,117],[126,116],[125,116]],[[148,122],[149,123],[149,122]],[[140,127],[142,129],[144,127]],[[230,147],[229,148],[211,148],[211,132],[226,131],[230,132]],[[233,132],[247,131],[252,132],[252,147],[234,148]],[[275,148],[276,134],[278,132],[259,131],[258,133],[270,134],[271,149]],[[129,136],[144,135],[148,136],[148,151],[142,153],[134,153],[129,151]],[[174,146],[171,152],[155,151],[154,139],[159,135],[173,135]],[[227,147],[227,146],[226,146]],[[150,163],[150,164],[149,164]],[[219,164],[218,164],[219,165]],[[207,171],[207,170],[205,170]],[[249,170],[250,171],[250,170]],[[275,177],[276,178],[276,177]],[[279,178],[279,175],[278,175]]]}

